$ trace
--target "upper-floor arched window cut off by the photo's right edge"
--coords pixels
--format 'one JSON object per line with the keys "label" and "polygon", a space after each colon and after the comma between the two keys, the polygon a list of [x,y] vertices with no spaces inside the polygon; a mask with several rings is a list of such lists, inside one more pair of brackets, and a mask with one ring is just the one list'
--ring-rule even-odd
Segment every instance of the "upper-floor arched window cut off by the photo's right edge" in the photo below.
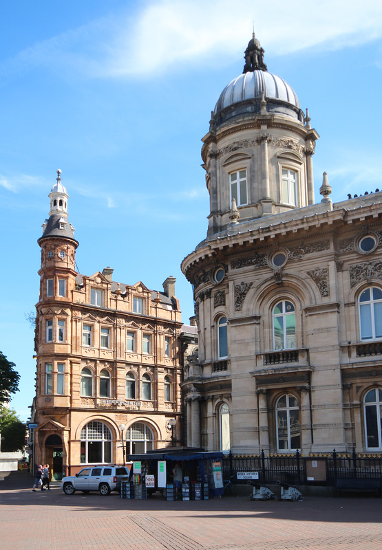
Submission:
{"label": "upper-floor arched window cut off by the photo's right edge", "polygon": [[361,340],[382,338],[382,290],[378,287],[366,288],[358,302]]}

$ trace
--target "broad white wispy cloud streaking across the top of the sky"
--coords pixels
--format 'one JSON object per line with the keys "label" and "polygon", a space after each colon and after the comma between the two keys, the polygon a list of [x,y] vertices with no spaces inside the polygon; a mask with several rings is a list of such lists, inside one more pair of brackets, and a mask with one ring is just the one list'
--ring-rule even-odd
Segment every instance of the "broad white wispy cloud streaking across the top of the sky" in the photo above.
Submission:
{"label": "broad white wispy cloud streaking across the top of the sky", "polygon": [[382,3],[275,0],[269,17],[269,5],[253,0],[237,0],[235,10],[231,0],[149,1],[136,12],[112,13],[28,47],[0,65],[0,82],[38,66],[116,78],[211,60],[219,65],[243,49],[252,21],[267,52],[334,50],[381,38]]}

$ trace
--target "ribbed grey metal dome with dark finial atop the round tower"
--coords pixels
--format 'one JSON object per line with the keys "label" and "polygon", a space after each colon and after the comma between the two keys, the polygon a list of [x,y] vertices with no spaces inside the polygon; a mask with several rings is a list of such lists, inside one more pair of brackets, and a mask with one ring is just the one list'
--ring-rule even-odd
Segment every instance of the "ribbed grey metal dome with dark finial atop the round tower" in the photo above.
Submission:
{"label": "ribbed grey metal dome with dark finial atop the round tower", "polygon": [[263,56],[264,50],[253,33],[244,53],[243,74],[226,85],[215,105],[216,127],[232,118],[259,114],[263,97],[266,113],[278,113],[304,122],[295,91],[283,78],[268,72]]}

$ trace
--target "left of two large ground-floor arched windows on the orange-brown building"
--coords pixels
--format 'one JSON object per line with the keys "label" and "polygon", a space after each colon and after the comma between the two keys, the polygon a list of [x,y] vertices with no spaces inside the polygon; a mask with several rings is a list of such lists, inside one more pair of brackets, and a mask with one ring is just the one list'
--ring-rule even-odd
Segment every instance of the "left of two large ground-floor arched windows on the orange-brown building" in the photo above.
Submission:
{"label": "left of two large ground-floor arched windows on the orange-brown building", "polygon": [[103,422],[92,421],[81,430],[81,464],[112,462],[112,432]]}

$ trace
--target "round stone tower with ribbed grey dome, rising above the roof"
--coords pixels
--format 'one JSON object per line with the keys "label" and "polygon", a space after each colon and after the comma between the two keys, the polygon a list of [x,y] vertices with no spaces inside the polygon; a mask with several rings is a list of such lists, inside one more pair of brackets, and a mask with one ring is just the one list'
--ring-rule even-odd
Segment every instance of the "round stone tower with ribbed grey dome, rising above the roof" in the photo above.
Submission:
{"label": "round stone tower with ribbed grey dome, rising above the roof", "polygon": [[319,135],[310,129],[295,91],[268,72],[264,50],[248,43],[243,74],[231,80],[202,141],[210,195],[208,236],[235,219],[249,221],[314,203],[312,154]]}

